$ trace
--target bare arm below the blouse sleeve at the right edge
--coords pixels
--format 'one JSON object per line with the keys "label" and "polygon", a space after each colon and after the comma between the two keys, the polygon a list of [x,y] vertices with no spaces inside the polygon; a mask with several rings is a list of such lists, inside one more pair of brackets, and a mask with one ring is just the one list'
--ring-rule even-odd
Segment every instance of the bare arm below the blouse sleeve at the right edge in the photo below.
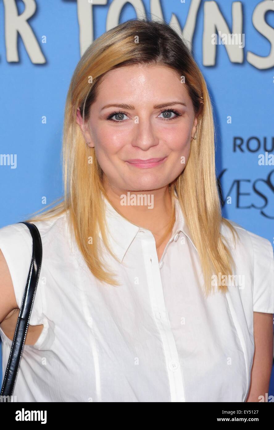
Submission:
{"label": "bare arm below the blouse sleeve at the right edge", "polygon": [[269,390],[273,365],[273,313],[253,312],[255,351],[246,402],[259,402]]}

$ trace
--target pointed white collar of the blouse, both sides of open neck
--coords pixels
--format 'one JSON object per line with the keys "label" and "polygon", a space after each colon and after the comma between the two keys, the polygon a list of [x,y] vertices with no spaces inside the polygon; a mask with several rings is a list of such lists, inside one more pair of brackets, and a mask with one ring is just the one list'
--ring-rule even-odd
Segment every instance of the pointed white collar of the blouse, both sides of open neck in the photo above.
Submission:
{"label": "pointed white collar of the blouse, both sides of open neck", "polygon": [[[127,221],[114,209],[113,206],[111,206],[105,196],[102,195],[102,198],[105,203],[105,221],[108,227],[106,231],[108,241],[112,251],[117,256],[118,260],[122,262],[126,251],[136,237],[137,233],[141,230],[147,233],[151,232],[150,230],[139,227],[138,225],[132,224],[130,221]],[[171,242],[174,236],[181,231],[188,237],[188,239],[197,251],[197,248],[191,238],[190,230],[185,222],[179,200],[176,197],[174,197],[174,199],[176,220],[172,230],[172,237],[169,242]],[[99,235],[102,238],[100,232]]]}

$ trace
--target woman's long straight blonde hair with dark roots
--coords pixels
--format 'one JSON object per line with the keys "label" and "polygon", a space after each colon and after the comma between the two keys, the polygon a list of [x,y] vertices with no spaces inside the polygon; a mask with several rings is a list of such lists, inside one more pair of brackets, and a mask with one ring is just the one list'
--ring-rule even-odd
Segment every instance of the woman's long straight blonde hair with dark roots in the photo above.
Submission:
{"label": "woman's long straight blonde hair with dark roots", "polygon": [[[135,43],[137,36],[138,43]],[[76,115],[79,107],[83,120],[89,117],[90,105],[96,100],[106,72],[134,64],[166,66],[172,68],[178,78],[184,77],[198,117],[196,141],[191,144],[187,165],[169,184],[169,189],[173,208],[175,193],[178,196],[199,254],[208,294],[212,291],[212,273],[227,276],[232,273],[234,264],[220,233],[221,222],[229,227],[234,240],[237,232],[221,215],[215,174],[214,121],[205,80],[183,38],[165,22],[126,21],[102,34],[84,52],[73,73],[66,98],[62,147],[64,196],[53,203],[63,201],[26,221],[46,221],[68,211],[70,231],[90,271],[102,282],[119,285],[114,274],[109,273],[101,261],[98,241],[101,231],[108,252],[117,260],[105,231],[102,194],[108,197],[102,184],[102,169],[94,148],[84,140]],[[88,163],[90,156],[92,163]],[[92,246],[88,243],[89,237],[93,238]],[[227,286],[221,285],[218,289],[226,292]]]}

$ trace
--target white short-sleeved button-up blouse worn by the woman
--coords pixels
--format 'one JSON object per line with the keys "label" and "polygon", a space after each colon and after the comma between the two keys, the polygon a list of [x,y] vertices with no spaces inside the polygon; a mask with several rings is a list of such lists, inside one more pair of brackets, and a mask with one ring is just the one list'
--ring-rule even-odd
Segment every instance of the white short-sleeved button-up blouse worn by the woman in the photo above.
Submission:
{"label": "white short-sleeved button-up blouse worn by the woman", "polygon": [[[221,232],[236,261],[238,286],[205,298],[202,270],[176,203],[172,238],[160,260],[151,231],[123,219],[105,200],[105,252],[121,286],[99,282],[69,235],[66,214],[35,222],[43,258],[25,345],[17,402],[244,402],[254,353],[253,311],[274,313],[270,241],[232,223]],[[24,224],[0,229],[0,249],[21,306],[32,255]],[[12,341],[0,329],[3,375]]]}

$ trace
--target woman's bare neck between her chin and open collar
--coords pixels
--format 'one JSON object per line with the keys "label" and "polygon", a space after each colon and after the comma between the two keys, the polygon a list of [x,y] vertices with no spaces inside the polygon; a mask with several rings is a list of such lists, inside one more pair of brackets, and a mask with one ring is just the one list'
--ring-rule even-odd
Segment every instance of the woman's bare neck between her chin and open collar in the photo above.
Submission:
{"label": "woman's bare neck between her chin and open collar", "polygon": [[120,215],[132,224],[151,231],[157,248],[165,239],[169,240],[175,222],[175,211],[168,185],[150,191],[121,190],[109,184],[105,184],[104,188],[108,200]]}

